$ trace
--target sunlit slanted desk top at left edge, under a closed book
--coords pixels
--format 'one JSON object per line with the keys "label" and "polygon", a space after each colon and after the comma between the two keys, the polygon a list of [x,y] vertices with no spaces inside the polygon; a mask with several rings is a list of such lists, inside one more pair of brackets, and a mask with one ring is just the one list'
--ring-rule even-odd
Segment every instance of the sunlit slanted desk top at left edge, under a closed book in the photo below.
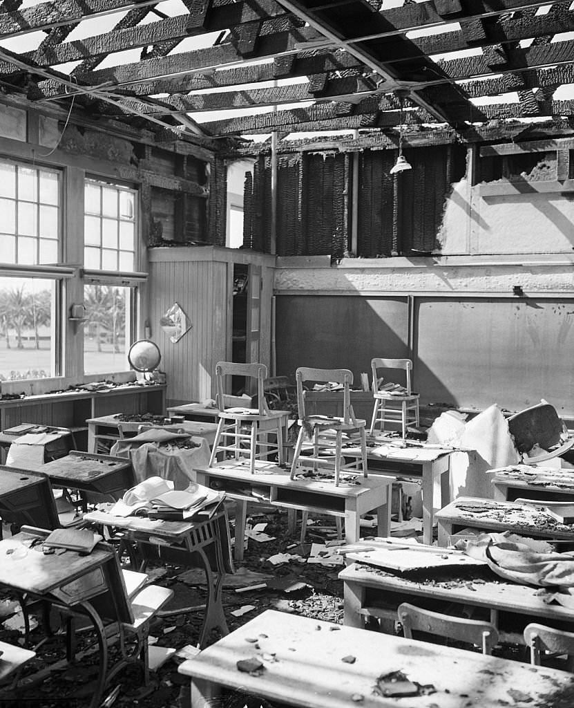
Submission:
{"label": "sunlit slanted desk top at left edge, under a closed book", "polygon": [[21,532],[0,541],[0,586],[45,595],[102,566],[115,554],[112,547],[99,543],[86,556],[76,551],[45,555],[42,544],[26,547],[35,538],[31,533]]}

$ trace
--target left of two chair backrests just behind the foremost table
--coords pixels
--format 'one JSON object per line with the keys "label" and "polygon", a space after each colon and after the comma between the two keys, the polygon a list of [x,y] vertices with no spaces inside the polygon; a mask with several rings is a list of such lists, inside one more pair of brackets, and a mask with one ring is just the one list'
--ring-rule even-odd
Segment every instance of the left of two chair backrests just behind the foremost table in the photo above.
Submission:
{"label": "left of two chair backrests just behind the foremost table", "polygon": [[491,622],[441,615],[439,612],[423,610],[409,603],[399,605],[397,612],[407,639],[412,639],[413,630],[428,632],[428,634],[438,634],[449,639],[476,644],[481,647],[484,654],[490,654],[493,646],[498,644],[498,631]]}

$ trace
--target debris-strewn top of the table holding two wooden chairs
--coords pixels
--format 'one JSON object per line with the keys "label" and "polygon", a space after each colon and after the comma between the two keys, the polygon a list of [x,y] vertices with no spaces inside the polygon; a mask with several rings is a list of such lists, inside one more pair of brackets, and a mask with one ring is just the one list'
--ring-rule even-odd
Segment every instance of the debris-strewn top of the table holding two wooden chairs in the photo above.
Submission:
{"label": "debris-strewn top of the table holding two wooden chairs", "polygon": [[[393,477],[383,475],[370,476],[365,479],[362,475],[354,476],[358,482],[339,481],[339,486],[335,486],[333,481],[317,481],[315,479],[290,479],[290,471],[278,467],[272,462],[255,462],[255,472],[251,474],[250,463],[241,460],[230,460],[222,462],[216,467],[197,467],[196,472],[207,474],[210,477],[223,477],[253,484],[254,486],[277,486],[288,487],[298,491],[310,491],[339,497],[357,497],[371,489],[380,486],[387,486],[394,481]],[[341,476],[345,476],[341,474]]]}

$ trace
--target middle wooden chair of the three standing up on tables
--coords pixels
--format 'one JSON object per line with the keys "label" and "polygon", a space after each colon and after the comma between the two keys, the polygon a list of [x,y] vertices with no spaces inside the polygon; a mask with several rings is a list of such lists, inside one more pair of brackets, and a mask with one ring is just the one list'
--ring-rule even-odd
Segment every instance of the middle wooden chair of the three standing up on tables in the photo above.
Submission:
{"label": "middle wooden chair of the three standing up on tables", "polygon": [[[318,467],[334,469],[335,485],[339,485],[339,474],[341,472],[358,472],[359,467],[363,470],[363,476],[367,476],[367,440],[365,435],[366,421],[355,418],[353,406],[351,406],[350,386],[353,383],[353,373],[348,369],[307,369],[300,367],[295,372],[297,379],[297,405],[300,426],[295,452],[293,453],[293,463],[291,464],[291,479],[294,478],[299,464],[305,466],[312,465],[312,469]],[[322,416],[316,414],[307,416],[305,413],[305,392],[303,382],[315,381],[320,383],[336,382],[343,384],[343,416]],[[352,462],[345,463],[342,450],[343,433],[352,437],[358,434],[361,445],[361,457],[353,457]],[[303,441],[305,437],[312,438],[312,455],[301,455]]]}

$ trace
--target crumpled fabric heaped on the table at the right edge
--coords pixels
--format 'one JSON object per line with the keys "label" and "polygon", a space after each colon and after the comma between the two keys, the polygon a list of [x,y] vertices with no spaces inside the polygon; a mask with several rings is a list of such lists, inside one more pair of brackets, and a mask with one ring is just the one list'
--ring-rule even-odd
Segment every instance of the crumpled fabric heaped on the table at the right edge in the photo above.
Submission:
{"label": "crumpled fabric heaped on the table at the right edge", "polygon": [[556,553],[546,542],[522,538],[508,531],[481,534],[476,541],[466,542],[464,552],[485,561],[493,573],[505,580],[554,588],[574,605],[574,597],[566,590],[574,588],[572,553]]}

